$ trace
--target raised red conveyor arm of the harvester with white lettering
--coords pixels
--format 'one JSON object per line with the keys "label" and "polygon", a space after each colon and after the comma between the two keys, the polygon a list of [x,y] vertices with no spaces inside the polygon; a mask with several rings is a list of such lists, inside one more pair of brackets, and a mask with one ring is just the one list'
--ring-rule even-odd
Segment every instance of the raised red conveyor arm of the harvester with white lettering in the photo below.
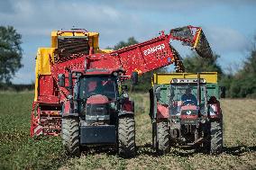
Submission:
{"label": "raised red conveyor arm of the harvester with white lettering", "polygon": [[183,45],[196,49],[202,58],[211,58],[212,50],[200,27],[186,26],[173,29],[169,34],[161,31],[160,36],[123,49],[114,50],[109,54],[93,54],[88,56],[88,68],[123,68],[125,76],[132,76],[134,71],[139,75],[148,71],[176,66],[176,72],[185,69],[176,49],[170,46],[170,40],[180,40]]}

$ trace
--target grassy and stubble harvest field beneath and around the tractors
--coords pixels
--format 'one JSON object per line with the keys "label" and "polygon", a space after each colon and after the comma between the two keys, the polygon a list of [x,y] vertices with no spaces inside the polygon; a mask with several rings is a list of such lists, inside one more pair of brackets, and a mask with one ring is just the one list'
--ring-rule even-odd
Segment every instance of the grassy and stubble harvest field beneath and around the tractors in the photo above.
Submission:
{"label": "grassy and stubble harvest field beneath and around the tractors", "polygon": [[256,100],[221,101],[224,153],[219,156],[172,148],[157,157],[151,149],[148,95],[136,94],[137,157],[91,150],[69,158],[59,138],[29,138],[32,95],[0,93],[0,169],[256,169]]}

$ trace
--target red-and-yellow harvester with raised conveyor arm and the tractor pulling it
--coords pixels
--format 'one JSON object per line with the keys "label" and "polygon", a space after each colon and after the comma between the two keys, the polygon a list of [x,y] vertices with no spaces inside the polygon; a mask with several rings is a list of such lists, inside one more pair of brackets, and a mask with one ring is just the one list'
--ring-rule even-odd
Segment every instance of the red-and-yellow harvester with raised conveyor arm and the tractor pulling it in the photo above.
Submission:
{"label": "red-and-yellow harvester with raised conveyor arm and the tractor pulling it", "polygon": [[[183,31],[183,33],[181,33]],[[185,32],[185,34],[184,34]],[[174,63],[184,70],[169,40],[182,40],[202,57],[212,51],[199,27],[187,26],[119,50],[98,48],[98,33],[53,31],[51,48],[38,50],[31,136],[61,133],[70,155],[81,147],[115,146],[135,155],[134,103],[122,85],[138,75]]]}

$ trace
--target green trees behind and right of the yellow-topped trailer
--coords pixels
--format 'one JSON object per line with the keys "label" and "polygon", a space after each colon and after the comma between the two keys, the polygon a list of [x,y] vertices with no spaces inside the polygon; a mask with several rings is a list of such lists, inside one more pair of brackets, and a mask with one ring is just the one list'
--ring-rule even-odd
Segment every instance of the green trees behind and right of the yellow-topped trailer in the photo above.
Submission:
{"label": "green trees behind and right of the yellow-topped trailer", "polygon": [[187,72],[216,71],[218,84],[226,89],[226,97],[256,98],[256,50],[251,49],[250,55],[242,62],[242,68],[235,73],[225,73],[218,64],[219,55],[214,58],[200,58],[196,54],[184,59]]}

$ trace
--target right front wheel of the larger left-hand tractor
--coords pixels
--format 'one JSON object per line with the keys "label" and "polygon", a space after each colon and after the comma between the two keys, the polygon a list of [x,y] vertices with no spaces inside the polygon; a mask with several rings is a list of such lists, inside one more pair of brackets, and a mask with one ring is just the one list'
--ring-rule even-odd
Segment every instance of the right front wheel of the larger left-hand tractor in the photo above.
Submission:
{"label": "right front wheel of the larger left-hand tractor", "polygon": [[133,117],[119,118],[118,154],[120,157],[135,156],[135,121]]}

